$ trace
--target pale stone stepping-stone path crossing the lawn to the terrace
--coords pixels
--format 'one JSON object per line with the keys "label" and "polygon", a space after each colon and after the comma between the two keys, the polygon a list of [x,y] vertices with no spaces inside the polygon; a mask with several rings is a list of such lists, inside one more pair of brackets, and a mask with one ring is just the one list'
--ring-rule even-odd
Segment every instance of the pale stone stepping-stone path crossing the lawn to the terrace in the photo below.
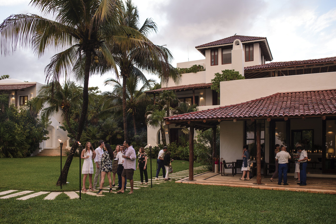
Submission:
{"label": "pale stone stepping-stone path crossing the lawn to the terrace", "polygon": [[[207,170],[208,169],[205,168],[205,166],[195,167],[194,168],[194,175],[198,174],[198,173],[203,173]],[[170,173],[169,174],[169,178],[170,178],[169,181],[179,180],[179,179],[182,179],[182,178],[185,178],[185,177],[188,177],[188,176],[189,176],[189,170],[181,170],[181,171],[178,171],[178,172]],[[159,180],[155,180],[155,177],[152,177],[152,183],[153,184],[161,184],[161,183],[165,183],[165,182],[168,182],[168,181],[165,181],[163,177],[159,177]],[[140,184],[140,183],[141,183],[140,181],[134,181],[133,189],[140,189],[141,187],[148,187],[148,186],[151,185],[151,180],[149,179],[148,185],[145,185],[144,183],[143,184]],[[131,188],[129,185],[130,185],[129,183],[126,184],[126,189],[125,190],[129,190]],[[109,189],[110,189],[110,186],[106,186],[106,187],[107,187],[107,190],[103,189],[103,192],[108,193]],[[112,189],[117,190],[117,187],[112,187]],[[27,199],[31,199],[31,198],[34,198],[34,197],[38,197],[38,196],[43,195],[43,194],[48,194],[44,198],[44,200],[54,200],[59,194],[62,194],[62,193],[67,194],[70,199],[79,198],[79,194],[78,194],[79,190],[77,190],[77,191],[64,191],[64,192],[38,191],[38,192],[35,192],[35,193],[32,193],[32,192],[34,192],[34,190],[24,190],[24,191],[20,191],[20,192],[16,192],[16,191],[18,191],[18,190],[2,191],[2,192],[0,192],[0,195],[4,195],[4,196],[0,197],[0,199],[14,198],[14,197],[17,197],[17,196],[27,194],[23,197],[20,197],[20,198],[16,199],[16,200],[27,200]],[[98,191],[98,189],[96,189],[95,191],[87,191],[87,192],[82,191],[82,193],[92,195],[92,196],[96,196],[96,197],[106,196],[104,194],[97,194],[96,193],[97,191]],[[15,193],[13,193],[13,192],[15,192]],[[32,193],[32,194],[30,194],[30,193]],[[112,191],[112,193],[117,193],[117,191]]]}

